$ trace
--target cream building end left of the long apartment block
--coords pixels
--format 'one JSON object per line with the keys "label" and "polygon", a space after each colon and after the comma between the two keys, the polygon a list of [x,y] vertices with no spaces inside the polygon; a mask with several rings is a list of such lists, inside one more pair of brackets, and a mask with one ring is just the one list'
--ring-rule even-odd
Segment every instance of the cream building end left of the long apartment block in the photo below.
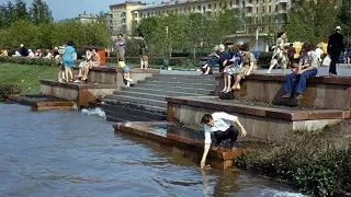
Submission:
{"label": "cream building end left of the long apartment block", "polygon": [[110,5],[110,31],[111,34],[116,36],[117,34],[129,34],[132,31],[132,11],[137,10],[140,7],[146,5],[140,1],[125,1],[120,4]]}

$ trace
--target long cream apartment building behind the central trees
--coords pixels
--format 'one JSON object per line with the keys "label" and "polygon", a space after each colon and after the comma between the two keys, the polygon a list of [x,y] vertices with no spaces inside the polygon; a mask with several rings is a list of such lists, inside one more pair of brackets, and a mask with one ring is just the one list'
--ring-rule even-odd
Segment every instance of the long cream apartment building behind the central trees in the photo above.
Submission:
{"label": "long cream apartment building behind the central trees", "polygon": [[287,19],[291,0],[170,0],[134,9],[133,23],[150,16],[167,14],[214,14],[224,9],[235,9],[245,21],[242,33],[269,32],[278,28]]}

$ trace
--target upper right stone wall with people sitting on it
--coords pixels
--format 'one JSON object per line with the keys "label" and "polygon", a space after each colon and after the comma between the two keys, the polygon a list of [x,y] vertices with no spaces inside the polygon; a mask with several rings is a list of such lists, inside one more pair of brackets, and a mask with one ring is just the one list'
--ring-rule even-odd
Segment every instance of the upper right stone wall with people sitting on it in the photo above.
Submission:
{"label": "upper right stone wall with people sitting on it", "polygon": [[[319,109],[351,108],[351,78],[312,77],[307,79],[305,95],[299,100],[282,99],[286,76],[252,74],[241,83],[241,90],[233,92],[235,100],[302,106]],[[296,88],[297,85],[295,85]],[[216,76],[215,95],[224,88],[223,74]]]}

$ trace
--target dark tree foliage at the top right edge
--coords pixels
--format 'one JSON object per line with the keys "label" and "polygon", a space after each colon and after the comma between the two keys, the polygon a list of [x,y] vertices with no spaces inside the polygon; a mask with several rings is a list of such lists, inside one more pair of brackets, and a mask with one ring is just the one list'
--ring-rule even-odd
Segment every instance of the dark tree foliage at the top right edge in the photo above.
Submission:
{"label": "dark tree foliage at the top right edge", "polygon": [[338,14],[338,23],[342,27],[343,34],[351,42],[351,0],[343,0]]}

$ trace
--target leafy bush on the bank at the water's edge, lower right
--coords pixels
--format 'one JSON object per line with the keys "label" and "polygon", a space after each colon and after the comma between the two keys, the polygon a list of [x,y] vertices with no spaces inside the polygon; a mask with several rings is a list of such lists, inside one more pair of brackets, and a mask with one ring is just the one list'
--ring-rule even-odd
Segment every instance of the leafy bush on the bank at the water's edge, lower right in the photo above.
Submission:
{"label": "leafy bush on the bank at the water's edge, lower right", "polygon": [[350,139],[340,137],[337,130],[333,127],[318,134],[295,132],[281,144],[257,150],[234,162],[240,169],[284,179],[308,195],[351,192]]}

